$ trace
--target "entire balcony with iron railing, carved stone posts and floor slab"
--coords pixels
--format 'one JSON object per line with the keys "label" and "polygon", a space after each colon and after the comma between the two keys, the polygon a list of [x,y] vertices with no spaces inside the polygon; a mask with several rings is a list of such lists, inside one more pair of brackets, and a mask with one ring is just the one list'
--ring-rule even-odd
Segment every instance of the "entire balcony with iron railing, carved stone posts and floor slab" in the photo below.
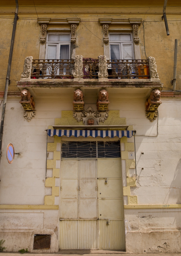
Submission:
{"label": "entire balcony with iron railing, carved stone posts and floor slab", "polygon": [[24,72],[17,86],[142,88],[147,94],[148,90],[162,88],[156,69],[153,57],[148,60],[106,60],[104,55],[98,59],[76,55],[73,60],[33,60],[30,56],[25,59]]}

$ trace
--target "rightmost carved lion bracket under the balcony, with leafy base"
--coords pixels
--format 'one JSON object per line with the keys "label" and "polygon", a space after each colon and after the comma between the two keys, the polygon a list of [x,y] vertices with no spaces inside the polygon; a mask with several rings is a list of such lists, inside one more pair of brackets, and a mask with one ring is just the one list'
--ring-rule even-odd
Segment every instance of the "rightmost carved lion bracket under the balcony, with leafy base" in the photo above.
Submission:
{"label": "rightmost carved lion bracket under the balcony, with leafy base", "polygon": [[160,94],[161,93],[160,93],[159,89],[154,89],[150,93],[149,98],[146,99],[145,113],[146,113],[146,117],[150,120],[150,122],[153,122],[158,116],[158,110],[157,109],[161,104]]}

